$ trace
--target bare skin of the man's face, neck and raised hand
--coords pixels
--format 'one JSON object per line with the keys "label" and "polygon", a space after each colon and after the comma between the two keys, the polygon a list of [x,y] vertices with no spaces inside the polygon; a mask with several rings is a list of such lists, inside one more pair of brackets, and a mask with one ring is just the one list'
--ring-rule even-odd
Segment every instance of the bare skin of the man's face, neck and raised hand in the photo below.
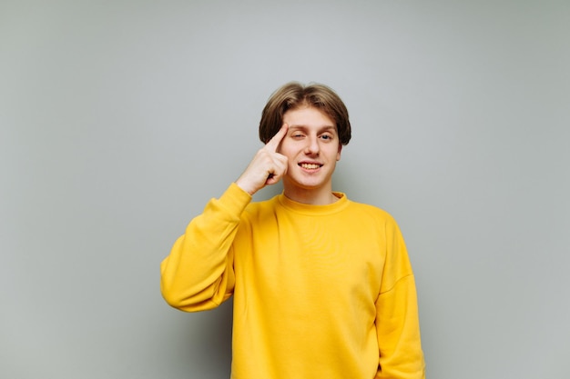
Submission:
{"label": "bare skin of the man's face, neck and raised hand", "polygon": [[253,157],[236,184],[249,194],[283,180],[283,193],[303,204],[331,204],[332,174],[342,145],[335,123],[314,107],[283,115],[280,131]]}

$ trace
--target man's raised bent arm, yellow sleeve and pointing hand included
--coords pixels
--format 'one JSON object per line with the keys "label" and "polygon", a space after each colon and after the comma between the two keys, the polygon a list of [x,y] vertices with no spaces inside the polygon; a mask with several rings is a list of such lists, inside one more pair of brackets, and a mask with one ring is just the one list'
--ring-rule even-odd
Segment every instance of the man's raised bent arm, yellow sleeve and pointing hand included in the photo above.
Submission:
{"label": "man's raised bent arm, yellow sleeve and pointing hand included", "polygon": [[287,157],[277,153],[287,125],[253,157],[235,184],[195,217],[160,266],[160,289],[168,304],[187,312],[215,308],[233,293],[233,242],[241,214],[255,194],[280,181]]}

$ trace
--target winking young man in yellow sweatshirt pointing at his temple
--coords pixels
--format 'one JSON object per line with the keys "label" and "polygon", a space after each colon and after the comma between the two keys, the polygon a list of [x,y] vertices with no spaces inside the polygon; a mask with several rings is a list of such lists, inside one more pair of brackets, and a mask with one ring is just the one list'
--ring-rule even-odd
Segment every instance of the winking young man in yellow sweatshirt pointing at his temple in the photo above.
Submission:
{"label": "winking young man in yellow sweatshirt pointing at his temple", "polygon": [[[332,192],[351,139],[341,98],[325,85],[282,86],[260,139],[163,261],[168,304],[195,312],[234,295],[233,379],[424,378],[402,234],[390,214]],[[282,194],[251,202],[280,180]]]}

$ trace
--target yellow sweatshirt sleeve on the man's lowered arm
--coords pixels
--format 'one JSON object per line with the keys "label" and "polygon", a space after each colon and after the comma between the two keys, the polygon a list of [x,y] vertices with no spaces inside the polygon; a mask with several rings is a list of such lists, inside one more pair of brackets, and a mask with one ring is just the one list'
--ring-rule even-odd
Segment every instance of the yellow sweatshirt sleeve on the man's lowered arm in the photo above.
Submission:
{"label": "yellow sweatshirt sleeve on the man's lowered arm", "polygon": [[376,301],[379,368],[376,379],[424,379],[412,265],[395,222],[386,225],[386,261]]}

